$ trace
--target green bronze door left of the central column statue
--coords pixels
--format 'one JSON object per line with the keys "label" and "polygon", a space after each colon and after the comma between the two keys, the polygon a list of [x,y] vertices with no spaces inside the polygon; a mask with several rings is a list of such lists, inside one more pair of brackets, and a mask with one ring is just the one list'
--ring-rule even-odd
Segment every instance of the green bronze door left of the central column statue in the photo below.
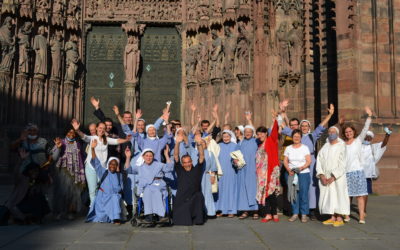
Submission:
{"label": "green bronze door left of the central column statue", "polygon": [[106,117],[115,115],[113,105],[124,111],[123,52],[126,35],[121,26],[94,26],[88,34],[86,46],[86,90],[84,122],[98,122],[93,115],[90,97],[100,98]]}

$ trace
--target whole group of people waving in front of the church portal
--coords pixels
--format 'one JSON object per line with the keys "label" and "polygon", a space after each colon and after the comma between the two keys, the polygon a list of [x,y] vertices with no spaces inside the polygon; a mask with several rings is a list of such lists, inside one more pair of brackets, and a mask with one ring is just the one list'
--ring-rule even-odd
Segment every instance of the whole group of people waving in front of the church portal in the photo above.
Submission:
{"label": "whole group of people waving in front of the church portal", "polygon": [[309,121],[288,119],[287,100],[271,112],[269,128],[257,129],[250,112],[245,125],[232,127],[229,114],[221,125],[217,105],[212,122],[196,119],[192,105],[186,128],[169,119],[170,102],[154,124],[142,119],[141,110],[120,114],[114,106],[116,121],[105,117],[98,99],[92,97],[91,103],[99,122],[89,124],[87,134],[74,119],[64,138],[55,138],[50,147],[39,128],[29,124],[13,143],[22,162],[6,207],[15,221],[40,221],[50,212],[73,219],[88,207],[87,222],[120,224],[133,216],[140,199],[147,222],[169,220],[172,200],[175,225],[201,225],[221,216],[278,222],[278,210],[284,210],[291,213],[290,222],[323,214],[330,215],[323,224],[338,227],[350,220],[356,197],[359,223],[365,223],[376,163],[392,132],[385,128],[384,141],[371,143],[368,107],[358,135],[348,123],[326,128],[333,105],[312,131]]}

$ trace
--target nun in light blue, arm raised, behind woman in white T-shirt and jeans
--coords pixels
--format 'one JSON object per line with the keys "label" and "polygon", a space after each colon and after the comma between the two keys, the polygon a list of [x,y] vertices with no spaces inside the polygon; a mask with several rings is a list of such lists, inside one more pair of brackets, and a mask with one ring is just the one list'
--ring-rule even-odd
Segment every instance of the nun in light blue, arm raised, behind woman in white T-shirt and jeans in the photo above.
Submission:
{"label": "nun in light blue, arm raised, behind woman in white T-shirt and jeans", "polygon": [[[333,116],[333,113],[335,112],[335,107],[333,104],[330,105],[329,114],[325,117],[325,119],[315,128],[314,131],[311,131],[311,123],[307,120],[303,120],[300,122],[300,130],[302,133],[302,139],[301,143],[306,145],[308,147],[308,150],[310,151],[311,155],[311,165],[310,165],[310,187],[308,191],[308,207],[310,209],[310,217],[311,220],[315,220],[315,209],[317,207],[318,203],[318,179],[315,176],[315,146],[317,144],[318,139],[321,137],[321,135],[325,132],[325,127],[331,117]],[[282,129],[282,134],[286,136],[290,136],[291,133],[293,132],[292,129],[289,127],[285,127]],[[307,213],[309,214],[309,213]]]}

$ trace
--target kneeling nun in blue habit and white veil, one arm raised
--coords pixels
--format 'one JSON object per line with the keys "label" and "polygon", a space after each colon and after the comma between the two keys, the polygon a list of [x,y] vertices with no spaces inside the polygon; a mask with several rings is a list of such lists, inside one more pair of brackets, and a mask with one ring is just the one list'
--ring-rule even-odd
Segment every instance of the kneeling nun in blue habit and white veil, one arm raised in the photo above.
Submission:
{"label": "kneeling nun in blue habit and white veil, one arm raised", "polygon": [[101,180],[93,206],[87,215],[86,222],[106,222],[120,224],[122,218],[121,192],[122,175],[117,172],[119,159],[110,157],[107,161],[107,169],[103,168],[96,157],[95,148],[97,140],[91,144],[91,164],[95,167],[97,177]]}

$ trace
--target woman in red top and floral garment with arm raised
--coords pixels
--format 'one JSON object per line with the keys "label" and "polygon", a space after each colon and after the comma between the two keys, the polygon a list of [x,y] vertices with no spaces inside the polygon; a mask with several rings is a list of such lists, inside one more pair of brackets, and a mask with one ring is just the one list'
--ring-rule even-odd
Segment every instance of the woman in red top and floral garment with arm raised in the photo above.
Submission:
{"label": "woman in red top and floral garment with arm raised", "polygon": [[257,138],[259,148],[256,154],[257,171],[257,201],[260,205],[260,212],[265,214],[261,222],[274,220],[279,221],[277,214],[277,195],[280,191],[280,168],[278,158],[278,123],[273,115],[273,127],[268,136],[268,129],[259,127]]}

